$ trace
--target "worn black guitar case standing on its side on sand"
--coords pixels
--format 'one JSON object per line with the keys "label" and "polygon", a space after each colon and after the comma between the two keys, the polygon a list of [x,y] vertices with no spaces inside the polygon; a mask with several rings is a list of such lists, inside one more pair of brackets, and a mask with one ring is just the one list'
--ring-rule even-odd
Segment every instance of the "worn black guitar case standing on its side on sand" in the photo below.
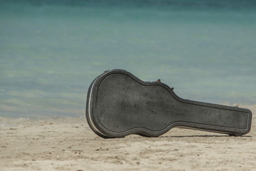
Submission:
{"label": "worn black guitar case standing on its side on sand", "polygon": [[106,71],[91,83],[86,119],[103,138],[163,135],[174,127],[229,135],[250,132],[252,112],[245,108],[179,98],[173,88],[144,82],[124,70]]}

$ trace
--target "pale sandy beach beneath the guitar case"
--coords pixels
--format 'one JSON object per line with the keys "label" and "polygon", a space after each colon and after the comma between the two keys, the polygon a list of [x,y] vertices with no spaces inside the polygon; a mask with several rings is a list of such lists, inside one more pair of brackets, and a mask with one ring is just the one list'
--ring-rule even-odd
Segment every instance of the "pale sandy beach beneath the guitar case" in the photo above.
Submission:
{"label": "pale sandy beach beneath the guitar case", "polygon": [[86,118],[0,118],[0,135],[0,170],[256,170],[255,117],[242,137],[173,128],[103,139]]}

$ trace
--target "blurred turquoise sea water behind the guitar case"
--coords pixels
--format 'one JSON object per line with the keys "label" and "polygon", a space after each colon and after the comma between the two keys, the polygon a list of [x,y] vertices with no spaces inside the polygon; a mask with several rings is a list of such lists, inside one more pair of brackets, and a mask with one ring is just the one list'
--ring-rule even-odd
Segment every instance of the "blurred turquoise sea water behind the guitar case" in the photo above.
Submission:
{"label": "blurred turquoise sea water behind the guitar case", "polygon": [[0,2],[0,116],[85,115],[114,68],[190,100],[256,103],[254,1]]}

